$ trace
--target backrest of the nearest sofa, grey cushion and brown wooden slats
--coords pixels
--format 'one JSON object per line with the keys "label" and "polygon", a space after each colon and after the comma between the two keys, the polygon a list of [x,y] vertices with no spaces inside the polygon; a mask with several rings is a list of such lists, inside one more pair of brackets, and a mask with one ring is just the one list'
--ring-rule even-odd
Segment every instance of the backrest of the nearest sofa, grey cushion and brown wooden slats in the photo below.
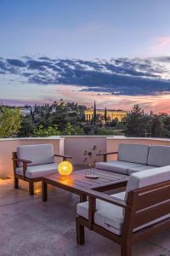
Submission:
{"label": "backrest of the nearest sofa, grey cushion and brown wooden slats", "polygon": [[[127,207],[123,212],[127,222],[133,219],[129,230],[136,232],[146,227],[154,229],[154,224],[168,224],[170,221],[170,166],[131,174],[127,183],[127,192],[134,189],[138,189],[135,194],[126,194],[127,203],[131,207]],[[134,195],[133,198],[132,195]]]}

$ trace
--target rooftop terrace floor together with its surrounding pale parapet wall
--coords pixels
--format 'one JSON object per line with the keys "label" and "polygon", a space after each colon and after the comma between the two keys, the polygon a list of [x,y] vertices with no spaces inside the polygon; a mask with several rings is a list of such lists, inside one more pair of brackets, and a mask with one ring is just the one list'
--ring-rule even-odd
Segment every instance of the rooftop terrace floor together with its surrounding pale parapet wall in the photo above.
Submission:
{"label": "rooftop terrace floor together with its surrounding pale parapet wall", "polygon": [[[119,143],[166,144],[170,140],[125,137],[53,137],[0,140],[0,256],[120,255],[120,246],[86,229],[86,243],[77,246],[75,215],[79,197],[49,188],[42,202],[41,183],[34,196],[27,183],[13,188],[11,152],[20,144],[54,143],[56,153],[72,154],[75,165],[82,164],[82,152],[97,144],[102,151],[115,150]],[[79,149],[79,150],[78,150]],[[80,166],[79,166],[80,168]],[[77,171],[78,172],[78,171]],[[133,246],[135,256],[170,255],[170,232],[160,232]]]}

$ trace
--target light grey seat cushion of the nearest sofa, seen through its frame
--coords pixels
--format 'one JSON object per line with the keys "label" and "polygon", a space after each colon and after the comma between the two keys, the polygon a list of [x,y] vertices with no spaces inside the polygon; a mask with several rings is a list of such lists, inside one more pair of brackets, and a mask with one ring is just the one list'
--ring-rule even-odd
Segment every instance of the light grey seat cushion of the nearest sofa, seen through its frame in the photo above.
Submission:
{"label": "light grey seat cushion of the nearest sofa, seen through its frame", "polygon": [[[115,194],[111,196],[120,198],[123,197],[122,193],[118,193],[119,195]],[[82,216],[83,218],[88,219],[88,201],[77,204],[77,214],[79,216]],[[150,221],[149,223],[144,224],[133,231],[135,232],[138,230],[142,230],[145,227],[156,224],[157,222],[166,218],[170,218],[170,214],[162,216],[161,218],[156,218],[155,220]],[[123,220],[124,216],[122,213],[122,207],[117,207],[111,203],[102,200],[96,200],[96,212],[94,212],[95,224],[103,227],[105,230],[109,230],[117,236],[121,236]]]}

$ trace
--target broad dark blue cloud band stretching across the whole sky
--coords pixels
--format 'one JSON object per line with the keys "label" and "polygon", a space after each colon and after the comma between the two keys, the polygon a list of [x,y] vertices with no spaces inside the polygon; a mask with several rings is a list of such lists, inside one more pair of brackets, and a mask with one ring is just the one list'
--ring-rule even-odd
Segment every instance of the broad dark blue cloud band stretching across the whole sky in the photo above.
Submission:
{"label": "broad dark blue cloud band stretching across the whole sky", "polygon": [[[23,57],[1,59],[0,73],[9,78],[24,79],[28,84],[62,84],[77,86],[77,90],[111,95],[148,96],[170,92],[170,67],[167,61],[154,58],[118,58],[83,61]],[[160,64],[161,63],[161,64]],[[82,88],[83,87],[83,88]],[[84,88],[85,87],[85,88]]]}

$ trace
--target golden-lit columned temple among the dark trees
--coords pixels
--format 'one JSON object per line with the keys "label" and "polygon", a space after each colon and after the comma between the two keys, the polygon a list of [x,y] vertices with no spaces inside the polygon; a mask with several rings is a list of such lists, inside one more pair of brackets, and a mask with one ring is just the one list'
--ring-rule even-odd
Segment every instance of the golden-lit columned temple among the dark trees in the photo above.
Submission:
{"label": "golden-lit columned temple among the dark trees", "polygon": [[[86,109],[84,111],[84,114],[85,114],[85,120],[90,121],[94,118],[94,109],[93,108]],[[105,110],[97,109],[96,114],[97,114],[97,116],[99,116],[100,119],[103,119],[105,116]],[[118,119],[119,122],[121,122],[122,119],[126,116],[127,116],[126,111],[107,109],[107,118],[110,119],[111,121],[114,119]]]}

